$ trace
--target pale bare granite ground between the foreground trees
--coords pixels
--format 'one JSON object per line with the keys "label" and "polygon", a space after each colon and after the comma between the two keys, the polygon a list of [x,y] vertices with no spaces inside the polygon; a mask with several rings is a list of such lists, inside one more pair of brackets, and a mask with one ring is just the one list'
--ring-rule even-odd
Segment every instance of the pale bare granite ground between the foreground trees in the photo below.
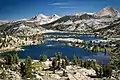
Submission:
{"label": "pale bare granite ground between the foreground trees", "polygon": [[[35,67],[33,69],[33,80],[94,80],[90,78],[88,75],[96,75],[93,69],[85,69],[79,66],[66,66],[66,69],[56,70],[55,73],[53,71],[47,70],[51,65],[52,61],[46,61],[40,63],[38,60],[33,60],[32,66]],[[41,66],[43,65],[43,66]],[[15,70],[19,68],[17,65],[12,65],[11,69]],[[19,72],[12,71],[11,69],[3,68],[0,70],[0,74],[6,74],[6,80],[24,80],[21,78]],[[43,71],[46,70],[46,71]],[[67,73],[67,76],[62,76],[63,71]],[[1,78],[3,75],[0,75]],[[28,78],[29,79],[29,78]],[[1,79],[4,80],[4,79]]]}

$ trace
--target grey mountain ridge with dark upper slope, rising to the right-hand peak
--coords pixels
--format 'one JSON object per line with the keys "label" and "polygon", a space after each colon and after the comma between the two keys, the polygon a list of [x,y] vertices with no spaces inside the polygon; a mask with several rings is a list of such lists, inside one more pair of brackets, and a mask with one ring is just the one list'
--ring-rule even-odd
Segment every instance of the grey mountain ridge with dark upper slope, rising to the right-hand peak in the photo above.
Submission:
{"label": "grey mountain ridge with dark upper slope, rising to the right-hand peak", "polygon": [[47,29],[66,31],[92,31],[109,26],[120,12],[111,7],[105,7],[96,13],[75,14],[63,16],[52,23],[41,25]]}

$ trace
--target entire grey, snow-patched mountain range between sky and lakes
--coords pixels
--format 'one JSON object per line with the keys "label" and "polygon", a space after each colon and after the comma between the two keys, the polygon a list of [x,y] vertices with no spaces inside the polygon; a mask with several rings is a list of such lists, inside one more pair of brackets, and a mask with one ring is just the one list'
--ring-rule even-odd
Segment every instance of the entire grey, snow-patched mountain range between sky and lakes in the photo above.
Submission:
{"label": "entire grey, snow-patched mountain range between sky and lakes", "polygon": [[105,7],[94,14],[84,13],[62,17],[56,14],[52,16],[39,14],[31,19],[13,21],[0,25],[0,31],[24,36],[39,34],[43,30],[93,32],[106,29],[115,24],[116,21],[118,24],[119,18],[119,11],[111,7]]}

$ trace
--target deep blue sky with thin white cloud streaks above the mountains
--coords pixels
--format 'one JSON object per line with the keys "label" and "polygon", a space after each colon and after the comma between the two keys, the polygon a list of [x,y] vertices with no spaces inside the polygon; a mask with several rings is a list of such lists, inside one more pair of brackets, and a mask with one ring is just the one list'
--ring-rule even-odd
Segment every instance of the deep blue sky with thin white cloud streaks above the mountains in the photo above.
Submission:
{"label": "deep blue sky with thin white cloud streaks above the mountains", "polygon": [[120,0],[0,0],[0,20],[46,15],[96,12],[105,6],[120,10]]}

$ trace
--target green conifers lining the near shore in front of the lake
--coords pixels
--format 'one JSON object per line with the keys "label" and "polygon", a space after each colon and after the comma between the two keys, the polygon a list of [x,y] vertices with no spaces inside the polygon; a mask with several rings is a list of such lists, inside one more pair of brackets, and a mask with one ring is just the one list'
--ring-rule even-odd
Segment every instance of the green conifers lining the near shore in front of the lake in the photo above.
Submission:
{"label": "green conifers lining the near shore in front of the lake", "polygon": [[[17,54],[15,55],[8,55],[6,58],[6,65],[13,65],[18,64],[20,65],[20,73],[23,78],[32,78],[32,59],[31,57],[26,57],[26,59],[23,62],[20,62],[19,57]],[[39,61],[45,62],[49,60],[48,57],[45,54],[40,54]],[[97,77],[110,77],[112,75],[112,68],[109,65],[99,65],[94,60],[82,60],[78,56],[73,56],[72,60],[69,60],[67,56],[62,56],[60,52],[55,53],[52,58],[52,66],[50,66],[50,69],[53,70],[53,73],[55,73],[55,70],[61,70],[66,69],[66,66],[69,65],[77,65],[80,67],[84,67],[87,69],[93,68],[96,72]],[[63,75],[66,76],[66,72],[63,72]]]}

